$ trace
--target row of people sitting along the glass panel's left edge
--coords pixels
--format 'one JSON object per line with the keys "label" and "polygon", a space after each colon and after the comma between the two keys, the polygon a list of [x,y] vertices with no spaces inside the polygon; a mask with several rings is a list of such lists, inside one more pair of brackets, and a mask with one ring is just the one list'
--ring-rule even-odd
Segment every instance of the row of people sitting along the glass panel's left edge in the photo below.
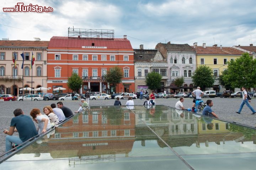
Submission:
{"label": "row of people sitting along the glass panel's left edge", "polygon": [[[6,152],[12,149],[12,143],[20,145],[34,136],[47,132],[52,126],[58,125],[74,115],[70,108],[63,106],[62,102],[57,103],[57,108],[55,103],[52,103],[51,106],[45,106],[43,112],[45,114],[42,114],[40,109],[33,108],[30,112],[31,119],[24,115],[22,109],[14,110],[14,118],[11,119],[10,129],[3,131],[7,135],[5,141]],[[38,124],[38,128],[36,128],[33,121]],[[19,136],[14,136],[14,132],[18,132]]]}

